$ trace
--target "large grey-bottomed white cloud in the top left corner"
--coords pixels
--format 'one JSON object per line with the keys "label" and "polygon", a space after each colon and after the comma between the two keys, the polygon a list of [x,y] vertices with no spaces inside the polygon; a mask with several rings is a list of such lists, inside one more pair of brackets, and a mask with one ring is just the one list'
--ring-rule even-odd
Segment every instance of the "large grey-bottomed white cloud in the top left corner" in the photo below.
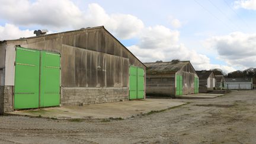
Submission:
{"label": "large grey-bottomed white cloud in the top left corner", "polygon": [[66,27],[79,23],[82,12],[69,0],[2,0],[0,15],[14,24]]}

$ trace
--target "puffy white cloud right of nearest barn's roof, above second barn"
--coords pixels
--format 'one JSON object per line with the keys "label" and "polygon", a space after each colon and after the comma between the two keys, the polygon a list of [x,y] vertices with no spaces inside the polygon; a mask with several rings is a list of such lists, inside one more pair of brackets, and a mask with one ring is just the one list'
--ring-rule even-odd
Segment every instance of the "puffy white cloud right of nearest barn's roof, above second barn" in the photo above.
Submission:
{"label": "puffy white cloud right of nearest barn's roof, above second barn", "polygon": [[170,30],[162,25],[148,27],[142,30],[139,36],[139,43],[127,47],[142,62],[155,62],[156,60],[171,61],[172,59],[190,60],[194,68],[213,69],[220,68],[225,72],[231,72],[235,69],[232,66],[220,66],[210,63],[209,57],[201,55],[195,50],[190,50],[179,43],[180,33]]}

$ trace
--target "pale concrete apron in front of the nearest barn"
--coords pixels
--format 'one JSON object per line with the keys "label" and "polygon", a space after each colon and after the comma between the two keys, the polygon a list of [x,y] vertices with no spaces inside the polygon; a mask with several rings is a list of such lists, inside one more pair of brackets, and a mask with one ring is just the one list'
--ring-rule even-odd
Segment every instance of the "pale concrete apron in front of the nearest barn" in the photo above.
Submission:
{"label": "pale concrete apron in front of the nearest barn", "polygon": [[54,119],[126,119],[151,111],[165,110],[186,103],[171,99],[151,99],[123,101],[117,103],[92,104],[84,106],[65,105],[62,107],[40,108],[36,110],[12,111],[8,114],[47,117]]}

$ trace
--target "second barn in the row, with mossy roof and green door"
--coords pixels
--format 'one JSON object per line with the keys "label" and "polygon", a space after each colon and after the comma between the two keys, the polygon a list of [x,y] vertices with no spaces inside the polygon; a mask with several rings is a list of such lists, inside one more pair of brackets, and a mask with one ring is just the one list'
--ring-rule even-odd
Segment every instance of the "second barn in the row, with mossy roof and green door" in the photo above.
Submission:
{"label": "second barn in the row, with mossy roof and green door", "polygon": [[145,63],[146,95],[169,96],[199,92],[199,77],[190,61]]}

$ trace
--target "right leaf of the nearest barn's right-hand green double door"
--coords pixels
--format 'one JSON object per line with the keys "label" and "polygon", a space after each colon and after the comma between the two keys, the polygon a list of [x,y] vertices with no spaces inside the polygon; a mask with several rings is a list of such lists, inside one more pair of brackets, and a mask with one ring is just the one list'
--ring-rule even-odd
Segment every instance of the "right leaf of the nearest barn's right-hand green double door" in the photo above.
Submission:
{"label": "right leaf of the nearest barn's right-hand green double door", "polygon": [[137,99],[144,98],[144,69],[137,68]]}

